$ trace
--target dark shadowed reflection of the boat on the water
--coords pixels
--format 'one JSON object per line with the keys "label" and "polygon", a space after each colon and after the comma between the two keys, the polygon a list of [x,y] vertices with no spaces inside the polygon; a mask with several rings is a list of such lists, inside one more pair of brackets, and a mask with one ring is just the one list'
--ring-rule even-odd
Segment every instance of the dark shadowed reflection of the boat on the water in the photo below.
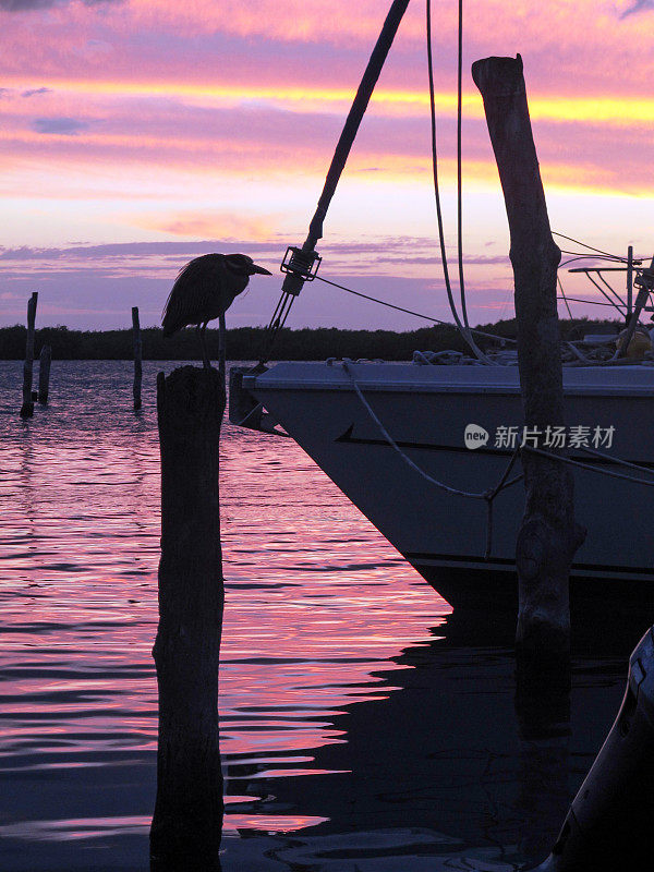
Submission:
{"label": "dark shadowed reflection of the boat on the water", "polygon": [[[619,707],[632,631],[619,650],[615,635],[608,646],[602,632],[586,637],[571,690],[517,695],[513,629],[513,616],[456,611],[427,645],[392,657],[398,668],[378,676],[376,699],[335,715],[341,741],[316,749],[322,774],[268,773],[264,785],[256,771],[232,768],[232,791],[269,791],[256,800],[262,813],[304,808],[316,819],[292,837],[266,833],[268,855],[320,872],[543,860]],[[223,869],[242,868],[246,846],[229,834],[225,846]]]}

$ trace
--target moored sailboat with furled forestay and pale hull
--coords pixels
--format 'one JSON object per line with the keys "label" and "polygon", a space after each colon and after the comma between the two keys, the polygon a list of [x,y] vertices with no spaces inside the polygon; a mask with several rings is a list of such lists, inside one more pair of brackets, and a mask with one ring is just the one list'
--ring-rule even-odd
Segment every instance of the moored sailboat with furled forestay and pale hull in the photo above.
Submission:
{"label": "moored sailboat with furled forestay and pale hull", "polygon": [[[316,277],[323,220],[408,2],[391,5],[307,239],[283,258],[271,341],[304,282]],[[643,267],[630,253],[618,268],[630,282],[628,310],[621,312],[629,324],[626,351],[654,288],[654,259]],[[620,358],[618,349],[607,365],[596,365],[588,343],[568,343],[568,424],[534,433],[523,425],[514,352],[476,353],[473,331],[457,323],[474,352],[468,359],[416,352],[400,364],[329,359],[267,366],[262,355],[257,366],[231,371],[230,420],[272,438],[291,436],[453,604],[514,595],[524,509],[520,451],[566,448],[577,517],[589,531],[574,557],[573,584],[597,596],[617,581],[653,581],[654,360]]]}

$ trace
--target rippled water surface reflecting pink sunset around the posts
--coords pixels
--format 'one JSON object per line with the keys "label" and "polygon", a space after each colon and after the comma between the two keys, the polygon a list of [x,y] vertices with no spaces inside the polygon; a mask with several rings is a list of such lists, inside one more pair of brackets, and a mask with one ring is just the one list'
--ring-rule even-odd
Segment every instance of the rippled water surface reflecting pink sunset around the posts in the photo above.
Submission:
{"label": "rippled water surface reflecting pink sunset around the posts", "polygon": [[[148,868],[172,366],[144,365],[135,415],[129,364],[56,362],[23,422],[21,364],[0,362],[4,872]],[[652,616],[600,604],[571,695],[516,701],[512,619],[450,614],[292,440],[226,423],[221,500],[225,872],[542,859]]]}

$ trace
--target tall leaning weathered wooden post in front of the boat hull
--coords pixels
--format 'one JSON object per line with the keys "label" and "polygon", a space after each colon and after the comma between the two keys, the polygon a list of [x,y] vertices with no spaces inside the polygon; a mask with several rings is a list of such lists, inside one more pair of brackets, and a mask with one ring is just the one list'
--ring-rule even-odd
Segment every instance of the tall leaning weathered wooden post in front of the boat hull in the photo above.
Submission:
{"label": "tall leaning weathered wooden post in front of the boat hull", "polygon": [[[549,229],[522,59],[520,55],[485,58],[472,65],[472,76],[484,98],[509,219],[524,423],[528,432],[544,434],[547,426],[564,425],[556,308],[560,251]],[[534,670],[556,675],[569,661],[569,573],[585,531],[574,521],[573,481],[568,467],[529,450],[522,451],[522,465],[526,505],[516,549],[516,645],[519,667],[525,667],[523,676],[529,680]]]}

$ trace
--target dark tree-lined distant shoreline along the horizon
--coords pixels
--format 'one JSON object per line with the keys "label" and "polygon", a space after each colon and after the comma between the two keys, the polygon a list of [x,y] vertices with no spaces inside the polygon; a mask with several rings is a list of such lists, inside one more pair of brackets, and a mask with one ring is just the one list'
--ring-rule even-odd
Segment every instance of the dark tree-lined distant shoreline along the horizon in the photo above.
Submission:
{"label": "dark tree-lined distant shoreline along the horizon", "polygon": [[[576,318],[561,320],[565,339],[581,339],[586,332],[613,332],[621,327],[617,320]],[[516,320],[480,325],[477,329],[509,339],[516,338]],[[0,360],[23,360],[25,327],[0,328]],[[227,353],[230,360],[254,360],[264,348],[264,327],[237,327],[228,330]],[[199,347],[194,329],[186,329],[165,339],[157,327],[142,330],[143,360],[197,361]],[[488,340],[477,337],[482,347]],[[35,354],[50,346],[53,360],[132,360],[132,330],[71,330],[68,327],[44,327],[36,331]],[[218,330],[207,330],[211,359],[218,358]],[[491,342],[494,346],[496,343]],[[315,361],[326,358],[382,358],[390,361],[411,360],[414,351],[467,351],[456,327],[435,325],[417,330],[341,330],[336,327],[283,329],[275,342],[270,360]]]}

